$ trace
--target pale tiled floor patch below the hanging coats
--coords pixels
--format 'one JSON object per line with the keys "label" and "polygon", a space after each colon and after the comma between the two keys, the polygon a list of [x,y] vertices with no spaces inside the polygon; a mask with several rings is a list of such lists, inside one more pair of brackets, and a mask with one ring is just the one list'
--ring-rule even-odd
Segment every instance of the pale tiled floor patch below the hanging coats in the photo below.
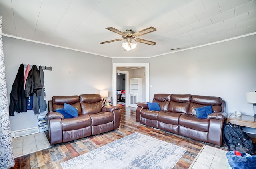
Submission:
{"label": "pale tiled floor patch below the hanging coats", "polygon": [[12,138],[14,158],[51,147],[44,132]]}

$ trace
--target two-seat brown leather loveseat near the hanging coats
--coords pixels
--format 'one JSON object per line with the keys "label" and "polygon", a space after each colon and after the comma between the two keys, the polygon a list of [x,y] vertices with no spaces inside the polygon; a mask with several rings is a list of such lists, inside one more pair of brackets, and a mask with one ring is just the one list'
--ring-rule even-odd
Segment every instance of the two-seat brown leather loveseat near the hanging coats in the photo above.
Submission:
{"label": "two-seat brown leather loveseat near the hanging coats", "polygon": [[[56,109],[64,103],[78,109],[78,117],[64,118]],[[50,144],[64,143],[90,135],[114,130],[120,124],[120,108],[104,106],[99,94],[80,96],[53,96],[48,101],[49,112],[46,114],[49,123]]]}

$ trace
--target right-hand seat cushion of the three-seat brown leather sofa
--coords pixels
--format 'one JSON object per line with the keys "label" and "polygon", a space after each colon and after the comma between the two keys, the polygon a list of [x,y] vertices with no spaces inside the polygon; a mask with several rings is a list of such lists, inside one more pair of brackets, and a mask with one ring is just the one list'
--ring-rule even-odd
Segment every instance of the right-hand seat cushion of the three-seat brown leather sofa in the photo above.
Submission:
{"label": "right-hand seat cushion of the three-seat brown leather sofa", "polygon": [[191,114],[182,114],[179,118],[179,124],[186,128],[191,128],[198,131],[208,132],[209,120],[196,118]]}

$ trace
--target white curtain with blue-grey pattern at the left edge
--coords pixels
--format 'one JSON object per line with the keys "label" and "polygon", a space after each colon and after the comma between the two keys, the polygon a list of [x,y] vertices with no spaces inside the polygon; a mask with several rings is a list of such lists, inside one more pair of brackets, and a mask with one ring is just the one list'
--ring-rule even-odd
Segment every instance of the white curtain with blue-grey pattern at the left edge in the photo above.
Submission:
{"label": "white curtain with blue-grey pattern at the left edge", "polygon": [[5,79],[2,17],[0,16],[0,169],[15,165]]}

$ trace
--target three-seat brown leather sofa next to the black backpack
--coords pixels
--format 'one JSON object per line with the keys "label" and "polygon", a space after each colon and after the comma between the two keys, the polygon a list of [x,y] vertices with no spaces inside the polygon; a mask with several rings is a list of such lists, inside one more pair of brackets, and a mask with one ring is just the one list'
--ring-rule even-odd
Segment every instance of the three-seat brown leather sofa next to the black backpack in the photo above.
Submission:
{"label": "three-seat brown leather sofa next to the black backpack", "polygon": [[[227,118],[225,101],[220,97],[190,94],[155,94],[161,111],[148,110],[147,103],[139,103],[136,121],[141,124],[179,134],[195,140],[222,145],[222,129]],[[195,108],[212,106],[206,119],[197,118]]]}

